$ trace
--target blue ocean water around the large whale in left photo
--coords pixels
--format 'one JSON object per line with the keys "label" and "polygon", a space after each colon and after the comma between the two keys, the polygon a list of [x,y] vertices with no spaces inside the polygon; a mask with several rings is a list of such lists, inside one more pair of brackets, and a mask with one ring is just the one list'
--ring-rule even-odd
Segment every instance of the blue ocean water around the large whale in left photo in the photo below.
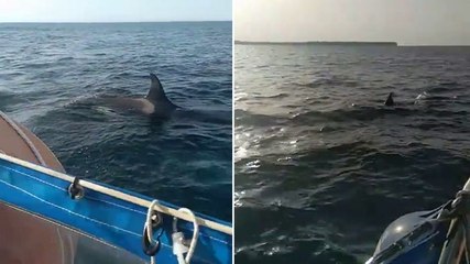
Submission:
{"label": "blue ocean water around the large whale in left photo", "polygon": [[[231,22],[0,24],[0,110],[72,175],[231,221]],[[150,73],[204,117],[80,103],[143,97]]]}

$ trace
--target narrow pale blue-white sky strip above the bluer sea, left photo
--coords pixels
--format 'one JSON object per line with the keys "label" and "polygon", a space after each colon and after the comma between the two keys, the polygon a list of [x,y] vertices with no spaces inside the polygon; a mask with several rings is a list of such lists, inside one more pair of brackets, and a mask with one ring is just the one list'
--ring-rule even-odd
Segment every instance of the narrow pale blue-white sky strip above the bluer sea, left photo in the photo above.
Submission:
{"label": "narrow pale blue-white sky strip above the bluer sea, left photo", "polygon": [[0,0],[0,22],[231,20],[231,0]]}

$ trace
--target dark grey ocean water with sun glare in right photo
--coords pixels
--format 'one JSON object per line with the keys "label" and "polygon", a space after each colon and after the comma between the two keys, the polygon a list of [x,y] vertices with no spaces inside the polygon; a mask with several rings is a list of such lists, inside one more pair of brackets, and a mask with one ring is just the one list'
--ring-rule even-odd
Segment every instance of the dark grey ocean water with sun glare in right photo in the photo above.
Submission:
{"label": "dark grey ocean water with sun glare in right photo", "polygon": [[470,176],[470,47],[236,45],[234,67],[237,262],[363,263]]}

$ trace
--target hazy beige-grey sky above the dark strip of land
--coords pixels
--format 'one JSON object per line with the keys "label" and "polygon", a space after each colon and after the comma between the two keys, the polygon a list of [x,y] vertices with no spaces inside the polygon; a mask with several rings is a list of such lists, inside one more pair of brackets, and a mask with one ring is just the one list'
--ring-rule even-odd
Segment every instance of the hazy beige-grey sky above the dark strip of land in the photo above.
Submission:
{"label": "hazy beige-grey sky above the dark strip of land", "polygon": [[470,0],[233,0],[238,41],[470,45]]}

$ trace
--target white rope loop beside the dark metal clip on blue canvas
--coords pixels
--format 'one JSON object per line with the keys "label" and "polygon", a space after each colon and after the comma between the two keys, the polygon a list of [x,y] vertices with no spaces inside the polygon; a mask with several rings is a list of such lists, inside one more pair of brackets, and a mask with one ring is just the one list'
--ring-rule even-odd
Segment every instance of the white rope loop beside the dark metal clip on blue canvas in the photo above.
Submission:
{"label": "white rope loop beside the dark metal clip on blue canvas", "polygon": [[[179,208],[178,211],[185,212],[190,216],[193,219],[193,239],[189,244],[189,249],[184,244],[184,237],[182,232],[178,232],[177,230],[177,221],[178,219],[175,217],[173,218],[173,254],[176,255],[176,258],[178,260],[178,264],[189,264],[190,258],[193,257],[194,251],[196,250],[197,240],[199,238],[199,224],[197,223],[197,218],[193,213],[192,210],[187,208]],[[183,254],[186,254],[186,257],[183,257]]]}

